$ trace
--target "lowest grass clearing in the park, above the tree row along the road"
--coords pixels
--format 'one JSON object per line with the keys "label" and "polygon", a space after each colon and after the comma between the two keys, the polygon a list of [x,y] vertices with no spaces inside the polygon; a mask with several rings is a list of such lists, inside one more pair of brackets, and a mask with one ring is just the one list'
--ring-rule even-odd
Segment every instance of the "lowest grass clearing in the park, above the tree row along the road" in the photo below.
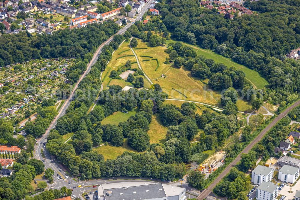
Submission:
{"label": "lowest grass clearing in the park, above the tree row along the road", "polygon": [[108,144],[94,148],[93,151],[101,153],[104,156],[104,160],[116,159],[117,156],[120,156],[125,151],[137,153],[137,151],[128,146],[127,139],[124,140],[124,144],[121,147],[114,147],[113,145]]}

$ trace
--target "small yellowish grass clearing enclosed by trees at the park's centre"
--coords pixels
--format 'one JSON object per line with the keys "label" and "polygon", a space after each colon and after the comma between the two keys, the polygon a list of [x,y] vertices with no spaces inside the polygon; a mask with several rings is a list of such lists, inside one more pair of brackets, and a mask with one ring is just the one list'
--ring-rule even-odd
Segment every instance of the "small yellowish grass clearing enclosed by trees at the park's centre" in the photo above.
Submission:
{"label": "small yellowish grass clearing enclosed by trees at the park's centre", "polygon": [[150,136],[150,144],[161,143],[166,141],[166,135],[168,128],[161,123],[161,119],[158,114],[152,116],[152,121],[149,125],[148,134]]}

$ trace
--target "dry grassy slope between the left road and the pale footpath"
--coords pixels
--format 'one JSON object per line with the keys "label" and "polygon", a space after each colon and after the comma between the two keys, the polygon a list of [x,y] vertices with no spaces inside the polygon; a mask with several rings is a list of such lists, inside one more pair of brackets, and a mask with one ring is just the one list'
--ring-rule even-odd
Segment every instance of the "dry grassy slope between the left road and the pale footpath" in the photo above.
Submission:
{"label": "dry grassy slope between the left road and the pale footpath", "polygon": [[[110,84],[113,79],[109,77],[110,72],[112,70],[117,70],[119,67],[126,64],[127,60],[131,60],[131,62],[136,62],[136,59],[134,56],[128,56],[128,55],[134,55],[132,51],[126,51],[119,55],[120,52],[128,50],[129,48],[129,42],[123,42],[123,44],[115,51],[115,53],[112,56],[112,59],[108,63],[106,69],[104,70],[102,74],[102,84],[103,89],[107,89],[107,86]],[[128,56],[128,57],[122,57],[122,56]],[[122,57],[122,58],[119,58]],[[117,59],[119,58],[119,59]]]}

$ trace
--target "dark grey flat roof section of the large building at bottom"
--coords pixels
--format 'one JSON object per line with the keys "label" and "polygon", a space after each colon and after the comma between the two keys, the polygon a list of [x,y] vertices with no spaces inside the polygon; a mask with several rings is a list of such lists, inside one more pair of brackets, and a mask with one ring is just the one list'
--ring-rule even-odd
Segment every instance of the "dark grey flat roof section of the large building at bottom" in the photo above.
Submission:
{"label": "dark grey flat roof section of the large building at bottom", "polygon": [[[160,190],[161,189],[161,190]],[[149,190],[149,192],[146,192]],[[108,196],[106,193],[112,191],[112,195]],[[123,193],[123,194],[120,194]],[[150,185],[141,185],[133,186],[125,189],[122,188],[112,188],[104,190],[105,199],[110,200],[123,200],[123,199],[155,199],[167,197],[164,191],[163,185],[161,183],[150,184]]]}

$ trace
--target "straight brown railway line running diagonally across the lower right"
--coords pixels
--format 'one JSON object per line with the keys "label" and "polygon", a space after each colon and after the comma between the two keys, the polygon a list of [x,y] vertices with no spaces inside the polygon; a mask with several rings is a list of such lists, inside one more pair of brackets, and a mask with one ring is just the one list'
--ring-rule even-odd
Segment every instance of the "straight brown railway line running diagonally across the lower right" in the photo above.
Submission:
{"label": "straight brown railway line running diagonally across the lower right", "polygon": [[214,180],[213,183],[211,183],[207,189],[204,189],[201,194],[197,197],[197,199],[205,199],[212,191],[212,189],[214,189],[214,187],[217,185],[217,183],[219,183],[221,181],[221,179],[223,177],[226,176],[226,174],[229,172],[229,170],[236,165],[240,159],[241,159],[241,154],[242,153],[248,153],[250,151],[250,149],[257,144],[259,141],[261,141],[261,139],[264,137],[264,135],[279,121],[281,120],[283,117],[286,116],[286,114],[291,111],[293,108],[297,107],[298,105],[300,105],[300,100],[295,102],[293,105],[289,106],[285,111],[283,111],[281,114],[279,114],[265,129],[263,129],[263,131],[250,143],[248,144],[248,146],[241,152],[238,154],[238,156],[235,158],[234,161],[232,161],[226,168],[225,170]]}

